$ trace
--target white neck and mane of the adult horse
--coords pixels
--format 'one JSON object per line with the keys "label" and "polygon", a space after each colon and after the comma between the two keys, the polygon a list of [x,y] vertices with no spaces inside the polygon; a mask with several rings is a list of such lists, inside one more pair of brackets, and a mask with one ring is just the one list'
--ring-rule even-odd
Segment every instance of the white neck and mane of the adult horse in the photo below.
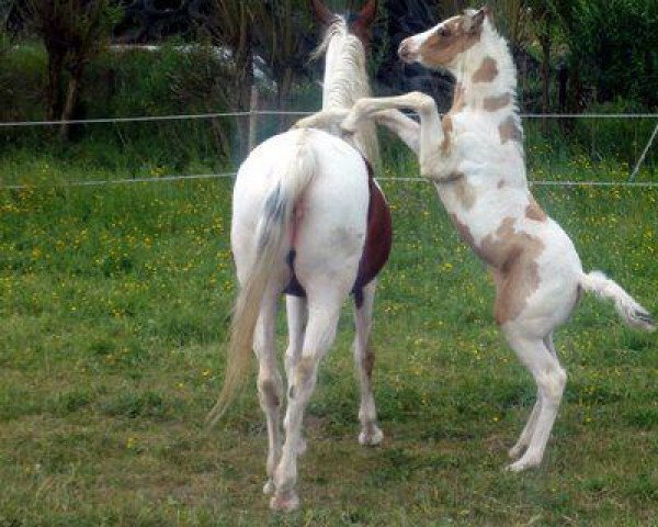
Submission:
{"label": "white neck and mane of the adult horse", "polygon": [[[372,94],[365,48],[361,40],[350,33],[342,16],[338,16],[327,29],[322,42],[313,52],[311,58],[326,54],[332,43],[337,43],[339,55],[330,72],[327,70],[327,65],[325,66],[322,110],[350,109],[359,99]],[[374,124],[365,123],[356,133],[355,139],[364,156],[376,164],[379,158],[379,145]]]}

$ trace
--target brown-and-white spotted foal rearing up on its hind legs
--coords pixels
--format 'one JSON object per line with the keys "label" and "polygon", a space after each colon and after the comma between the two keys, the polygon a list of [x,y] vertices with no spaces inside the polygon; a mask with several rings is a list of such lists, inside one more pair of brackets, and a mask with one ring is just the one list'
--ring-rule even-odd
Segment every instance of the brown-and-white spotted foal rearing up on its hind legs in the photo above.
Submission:
{"label": "brown-and-white spotted foal rearing up on its hind legs", "polygon": [[[447,68],[456,78],[452,109],[439,116],[423,93],[364,99],[345,114],[316,114],[297,126],[342,121],[353,133],[368,115],[397,132],[420,158],[462,239],[496,282],[495,317],[507,341],[533,374],[537,400],[518,442],[512,471],[541,463],[567,374],[553,345],[582,291],[611,299],[631,326],[654,330],[647,310],[601,272],[586,273],[569,236],[530,193],[523,132],[515,103],[517,71],[489,11],[468,10],[402,41],[406,63]],[[411,109],[420,124],[398,110]]]}

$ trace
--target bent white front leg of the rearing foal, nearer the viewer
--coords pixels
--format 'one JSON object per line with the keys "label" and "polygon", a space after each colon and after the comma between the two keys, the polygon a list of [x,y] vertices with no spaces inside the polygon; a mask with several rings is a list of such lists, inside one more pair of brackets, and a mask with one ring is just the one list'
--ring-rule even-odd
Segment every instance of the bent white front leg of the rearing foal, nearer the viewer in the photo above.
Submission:
{"label": "bent white front leg of the rearing foal, nearer the viewer", "polygon": [[420,175],[429,179],[435,179],[435,172],[442,156],[440,145],[444,142],[444,133],[436,103],[430,96],[415,91],[399,97],[360,99],[341,123],[341,128],[345,133],[355,133],[360,123],[372,114],[383,110],[402,109],[413,110],[420,116],[420,141],[418,148]]}

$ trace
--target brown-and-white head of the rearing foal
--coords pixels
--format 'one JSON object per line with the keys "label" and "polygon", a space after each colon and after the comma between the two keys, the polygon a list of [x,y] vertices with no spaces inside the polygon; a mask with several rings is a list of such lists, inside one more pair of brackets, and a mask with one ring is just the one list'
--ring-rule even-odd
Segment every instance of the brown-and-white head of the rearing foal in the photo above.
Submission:
{"label": "brown-and-white head of the rearing foal", "polygon": [[485,20],[489,15],[489,8],[485,7],[444,20],[423,33],[405,38],[398,55],[408,64],[450,69],[460,63],[465,52],[480,42]]}

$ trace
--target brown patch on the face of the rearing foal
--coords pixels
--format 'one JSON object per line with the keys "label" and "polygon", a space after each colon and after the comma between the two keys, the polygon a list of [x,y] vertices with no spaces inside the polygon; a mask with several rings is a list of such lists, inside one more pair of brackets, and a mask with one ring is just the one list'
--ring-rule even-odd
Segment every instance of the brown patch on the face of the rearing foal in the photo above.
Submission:
{"label": "brown patch on the face of the rearing foal", "polygon": [[430,66],[445,66],[477,44],[480,34],[481,27],[469,31],[463,16],[451,20],[421,44],[422,61]]}

